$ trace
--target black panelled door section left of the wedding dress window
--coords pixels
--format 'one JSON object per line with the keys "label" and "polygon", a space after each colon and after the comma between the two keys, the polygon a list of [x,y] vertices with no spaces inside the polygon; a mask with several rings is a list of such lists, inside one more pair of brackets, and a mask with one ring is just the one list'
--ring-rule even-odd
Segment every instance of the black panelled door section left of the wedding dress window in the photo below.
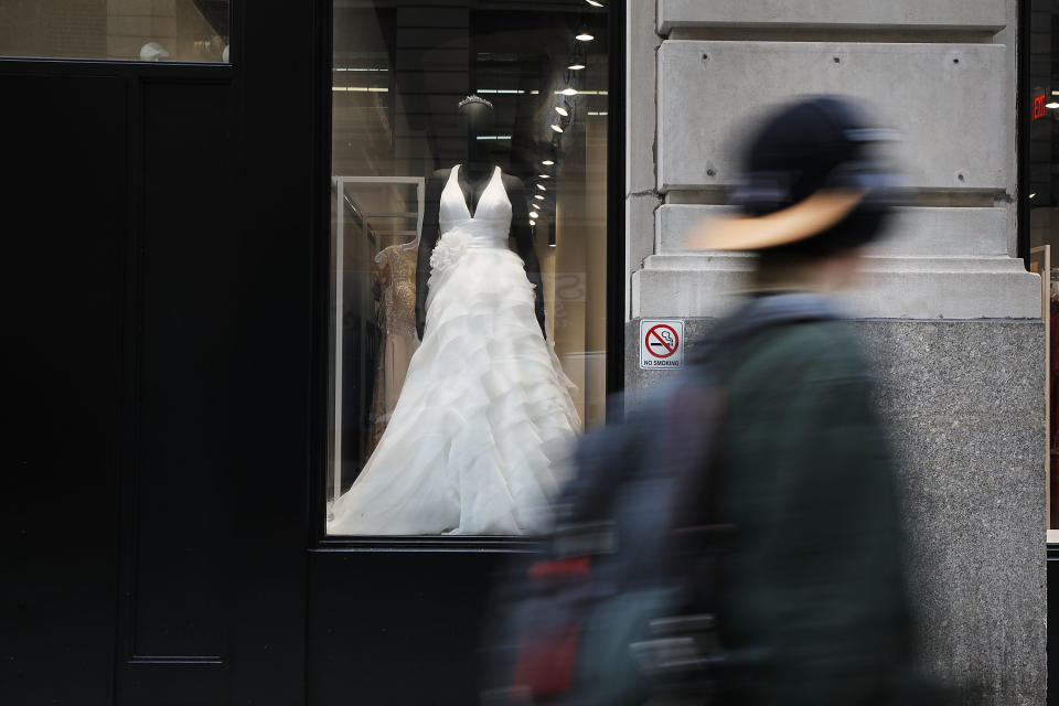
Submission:
{"label": "black panelled door section left of the wedding dress window", "polygon": [[0,62],[3,703],[304,699],[319,18],[225,4],[231,65]]}

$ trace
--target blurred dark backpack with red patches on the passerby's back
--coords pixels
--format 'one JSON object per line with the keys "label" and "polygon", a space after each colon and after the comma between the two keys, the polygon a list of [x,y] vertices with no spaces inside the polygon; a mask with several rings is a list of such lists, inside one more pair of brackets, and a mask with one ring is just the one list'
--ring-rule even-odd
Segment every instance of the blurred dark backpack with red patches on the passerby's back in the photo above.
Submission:
{"label": "blurred dark backpack with red patches on the passerby's back", "polygon": [[[724,650],[719,521],[726,353],[762,331],[834,318],[825,300],[756,300],[717,324],[688,367],[620,424],[582,436],[545,556],[510,571],[494,648],[506,657],[489,706],[622,706],[659,695],[706,700],[724,670],[761,655]],[[494,662],[496,655],[494,654]]]}

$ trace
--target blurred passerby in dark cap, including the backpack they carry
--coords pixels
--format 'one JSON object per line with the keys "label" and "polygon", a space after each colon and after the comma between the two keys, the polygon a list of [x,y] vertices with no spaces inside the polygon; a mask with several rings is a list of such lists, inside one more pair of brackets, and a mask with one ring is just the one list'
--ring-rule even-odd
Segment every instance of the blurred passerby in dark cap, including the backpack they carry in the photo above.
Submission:
{"label": "blurred passerby in dark cap, including the backpack they carry", "polygon": [[688,370],[580,440],[485,703],[939,702],[912,663],[886,429],[833,301],[898,193],[874,157],[890,137],[833,96],[762,124],[741,213],[692,236],[756,253],[751,291]]}

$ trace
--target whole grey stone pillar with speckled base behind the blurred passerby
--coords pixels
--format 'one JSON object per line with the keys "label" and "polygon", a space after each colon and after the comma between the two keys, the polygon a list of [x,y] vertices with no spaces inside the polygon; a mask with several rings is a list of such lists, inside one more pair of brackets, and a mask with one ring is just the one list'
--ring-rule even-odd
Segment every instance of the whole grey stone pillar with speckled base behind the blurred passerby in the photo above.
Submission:
{"label": "whole grey stone pillar with speckled base behind the blurred passerby", "polygon": [[1046,339],[1018,257],[1017,3],[630,2],[628,33],[628,388],[670,374],[641,370],[641,319],[682,319],[694,345],[740,288],[746,256],[682,237],[725,210],[755,114],[838,93],[885,116],[914,197],[847,304],[903,469],[923,657],[961,703],[1041,703]]}

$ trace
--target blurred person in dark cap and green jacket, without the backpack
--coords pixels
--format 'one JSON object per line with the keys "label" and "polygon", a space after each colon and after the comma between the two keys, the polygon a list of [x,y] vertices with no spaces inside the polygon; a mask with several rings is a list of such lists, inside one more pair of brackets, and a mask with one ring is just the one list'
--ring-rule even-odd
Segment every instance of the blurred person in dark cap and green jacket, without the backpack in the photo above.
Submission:
{"label": "blurred person in dark cap and green jacket, without the backpack", "polygon": [[888,137],[848,99],[805,98],[751,141],[742,215],[693,236],[757,253],[749,301],[724,331],[803,309],[726,350],[716,472],[731,527],[714,611],[726,650],[760,660],[720,678],[719,703],[928,704],[912,666],[902,512],[886,429],[858,342],[831,292],[855,279],[884,232],[895,175]]}

